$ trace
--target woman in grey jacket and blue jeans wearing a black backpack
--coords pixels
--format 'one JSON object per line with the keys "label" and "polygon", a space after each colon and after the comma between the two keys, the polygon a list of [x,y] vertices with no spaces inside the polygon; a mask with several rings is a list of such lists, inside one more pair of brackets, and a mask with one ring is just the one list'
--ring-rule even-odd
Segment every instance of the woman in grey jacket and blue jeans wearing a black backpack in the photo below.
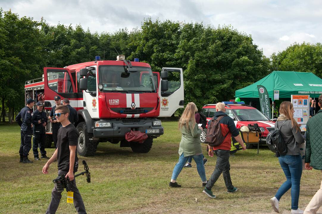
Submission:
{"label": "woman in grey jacket and blue jeans wearing a black backpack", "polygon": [[291,189],[291,213],[303,213],[298,209],[298,197],[300,193],[300,181],[302,176],[302,159],[299,153],[299,144],[304,143],[304,137],[301,130],[293,118],[293,104],[284,101],[279,107],[280,115],[275,123],[275,129],[279,129],[284,143],[287,146],[285,154],[279,154],[279,163],[284,171],[286,181],[279,187],[276,195],[270,199],[272,208],[279,213],[279,200]]}

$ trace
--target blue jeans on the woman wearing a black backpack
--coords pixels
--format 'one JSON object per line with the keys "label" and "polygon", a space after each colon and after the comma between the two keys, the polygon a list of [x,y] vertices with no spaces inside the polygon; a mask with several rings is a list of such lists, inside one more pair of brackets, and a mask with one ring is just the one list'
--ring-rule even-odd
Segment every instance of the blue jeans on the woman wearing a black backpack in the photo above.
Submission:
{"label": "blue jeans on the woman wearing a black backpack", "polygon": [[286,181],[279,187],[275,197],[277,200],[291,189],[292,209],[298,209],[298,197],[300,195],[300,182],[302,176],[302,159],[300,155],[281,155],[279,157]]}

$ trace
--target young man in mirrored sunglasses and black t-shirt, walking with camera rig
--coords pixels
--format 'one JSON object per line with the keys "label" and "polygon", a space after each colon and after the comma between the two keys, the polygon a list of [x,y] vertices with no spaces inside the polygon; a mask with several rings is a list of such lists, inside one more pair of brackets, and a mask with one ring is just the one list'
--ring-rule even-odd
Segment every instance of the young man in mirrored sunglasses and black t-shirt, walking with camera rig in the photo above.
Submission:
{"label": "young man in mirrored sunglasses and black t-shirt, walking with camera rig", "polygon": [[[52,157],[43,167],[43,173],[48,173],[49,165],[57,159],[58,163],[58,175],[64,174],[65,178],[69,178],[71,191],[73,192],[73,202],[78,213],[86,214],[85,205],[81,198],[81,194],[76,186],[74,179],[74,173],[78,169],[78,157],[77,157],[77,144],[78,144],[78,131],[73,124],[69,121],[70,111],[66,105],[59,105],[55,109],[54,117],[57,122],[62,124],[62,127],[58,130],[57,135],[57,149]],[[62,198],[62,192],[57,191],[55,184],[52,189],[52,200],[48,206],[46,214],[56,213],[59,202]]]}

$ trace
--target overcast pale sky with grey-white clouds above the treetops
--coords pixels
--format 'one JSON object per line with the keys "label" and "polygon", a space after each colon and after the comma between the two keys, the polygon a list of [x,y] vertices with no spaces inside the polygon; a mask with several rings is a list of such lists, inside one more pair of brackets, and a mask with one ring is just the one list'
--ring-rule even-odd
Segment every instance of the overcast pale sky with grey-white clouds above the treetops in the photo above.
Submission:
{"label": "overcast pale sky with grey-white clouds above the treetops", "polygon": [[0,0],[0,7],[20,17],[48,23],[81,24],[86,30],[112,33],[152,20],[231,25],[251,34],[266,56],[294,42],[321,42],[322,1],[260,0]]}

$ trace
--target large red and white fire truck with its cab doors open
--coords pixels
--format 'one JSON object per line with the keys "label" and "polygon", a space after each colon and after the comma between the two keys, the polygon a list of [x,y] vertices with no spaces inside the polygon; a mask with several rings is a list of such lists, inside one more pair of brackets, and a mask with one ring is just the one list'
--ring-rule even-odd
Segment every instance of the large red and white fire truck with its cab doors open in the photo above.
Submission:
{"label": "large red and white fire truck with its cab doors open", "polygon": [[[183,72],[181,68],[152,72],[149,64],[119,55],[116,61],[96,57],[64,68],[44,68],[42,78],[26,81],[25,99],[43,101],[48,115],[55,96],[68,98],[78,112],[78,154],[93,155],[99,142],[107,141],[147,153],[153,138],[164,133],[157,117],[172,116],[184,105]],[[128,142],[125,134],[131,130],[148,138]],[[51,123],[46,141],[52,145]]]}

